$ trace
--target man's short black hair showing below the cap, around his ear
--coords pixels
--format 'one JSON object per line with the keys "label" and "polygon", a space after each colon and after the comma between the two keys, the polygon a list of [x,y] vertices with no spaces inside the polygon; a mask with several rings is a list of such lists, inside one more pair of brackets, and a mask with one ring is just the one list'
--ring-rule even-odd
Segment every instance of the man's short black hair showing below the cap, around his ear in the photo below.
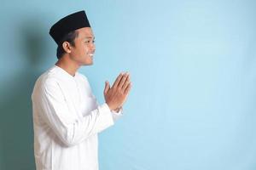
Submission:
{"label": "man's short black hair showing below the cap, around his ear", "polygon": [[62,55],[66,53],[66,51],[62,47],[62,43],[69,42],[74,47],[75,46],[74,39],[78,36],[79,36],[79,33],[77,31],[70,31],[61,38],[61,42],[58,44],[57,53],[56,53],[58,59],[61,59]]}

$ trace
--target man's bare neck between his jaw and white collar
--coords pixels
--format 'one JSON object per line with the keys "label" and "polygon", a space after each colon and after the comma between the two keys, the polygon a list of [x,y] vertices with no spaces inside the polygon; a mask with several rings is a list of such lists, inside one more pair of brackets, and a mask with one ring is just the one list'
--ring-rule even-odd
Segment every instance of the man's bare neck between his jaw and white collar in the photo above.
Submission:
{"label": "man's bare neck between his jaw and white collar", "polygon": [[62,56],[61,59],[59,59],[55,65],[61,67],[64,71],[67,71],[68,74],[71,76],[75,76],[76,71],[79,70],[79,65],[74,63],[72,60],[68,59],[67,56]]}

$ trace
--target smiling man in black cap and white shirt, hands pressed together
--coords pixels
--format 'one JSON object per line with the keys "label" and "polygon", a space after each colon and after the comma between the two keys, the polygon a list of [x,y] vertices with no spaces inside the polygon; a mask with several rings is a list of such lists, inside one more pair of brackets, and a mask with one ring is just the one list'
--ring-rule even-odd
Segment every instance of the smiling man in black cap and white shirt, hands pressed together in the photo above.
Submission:
{"label": "smiling man in black cap and white shirt, hands pressed together", "polygon": [[38,77],[32,92],[34,155],[38,170],[97,170],[97,133],[122,115],[131,89],[120,73],[105,103],[98,105],[87,78],[78,72],[93,64],[94,35],[84,11],[67,15],[50,28],[58,61]]}

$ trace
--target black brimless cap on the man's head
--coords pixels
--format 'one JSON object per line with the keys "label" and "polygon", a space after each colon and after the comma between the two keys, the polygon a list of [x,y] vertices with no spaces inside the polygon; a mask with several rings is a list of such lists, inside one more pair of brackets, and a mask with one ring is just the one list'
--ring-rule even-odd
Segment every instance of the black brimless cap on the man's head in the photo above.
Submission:
{"label": "black brimless cap on the man's head", "polygon": [[57,44],[59,44],[61,42],[61,38],[67,33],[83,27],[90,27],[89,20],[87,19],[84,10],[69,14],[56,22],[55,25],[51,26],[49,35]]}

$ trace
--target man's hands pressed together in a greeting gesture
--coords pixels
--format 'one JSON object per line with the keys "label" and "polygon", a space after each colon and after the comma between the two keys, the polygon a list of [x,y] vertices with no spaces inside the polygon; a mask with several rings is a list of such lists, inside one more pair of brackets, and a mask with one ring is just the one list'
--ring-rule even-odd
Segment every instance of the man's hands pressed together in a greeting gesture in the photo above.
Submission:
{"label": "man's hands pressed together in a greeting gesture", "polygon": [[109,82],[105,82],[104,98],[111,111],[117,111],[122,105],[131,89],[130,75],[120,73],[110,88]]}

